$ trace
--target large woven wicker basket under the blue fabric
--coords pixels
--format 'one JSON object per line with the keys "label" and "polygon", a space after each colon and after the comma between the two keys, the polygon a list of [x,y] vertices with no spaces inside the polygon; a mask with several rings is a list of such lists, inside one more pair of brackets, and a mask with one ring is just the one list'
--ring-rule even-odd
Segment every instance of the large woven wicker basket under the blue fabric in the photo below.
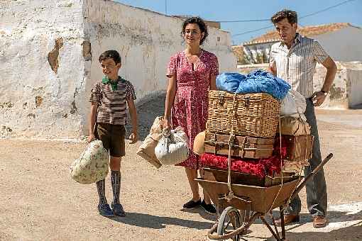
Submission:
{"label": "large woven wicker basket under the blue fabric", "polygon": [[207,129],[212,133],[273,138],[279,123],[280,103],[270,94],[230,94],[209,91]]}

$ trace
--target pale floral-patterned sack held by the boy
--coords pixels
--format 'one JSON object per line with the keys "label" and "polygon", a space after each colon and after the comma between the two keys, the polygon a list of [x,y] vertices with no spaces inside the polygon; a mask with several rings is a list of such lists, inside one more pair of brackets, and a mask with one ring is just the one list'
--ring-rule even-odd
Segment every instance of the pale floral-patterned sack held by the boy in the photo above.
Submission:
{"label": "pale floral-patterned sack held by the boy", "polygon": [[70,176],[80,184],[92,184],[108,174],[109,155],[101,140],[89,143],[82,155],[70,165]]}

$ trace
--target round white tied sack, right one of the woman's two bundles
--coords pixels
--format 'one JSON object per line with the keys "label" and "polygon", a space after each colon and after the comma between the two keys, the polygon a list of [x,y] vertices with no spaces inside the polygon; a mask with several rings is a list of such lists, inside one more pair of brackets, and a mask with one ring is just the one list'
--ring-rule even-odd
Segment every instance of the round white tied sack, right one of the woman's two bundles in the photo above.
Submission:
{"label": "round white tied sack, right one of the woman's two bundles", "polygon": [[189,157],[190,150],[187,142],[187,135],[180,127],[164,132],[155,147],[155,155],[161,164],[179,164]]}

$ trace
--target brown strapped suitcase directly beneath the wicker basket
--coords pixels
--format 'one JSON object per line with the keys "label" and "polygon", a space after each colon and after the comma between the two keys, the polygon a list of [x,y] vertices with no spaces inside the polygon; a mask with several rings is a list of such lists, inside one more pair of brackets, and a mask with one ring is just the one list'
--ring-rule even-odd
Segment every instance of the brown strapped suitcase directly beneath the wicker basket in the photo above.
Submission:
{"label": "brown strapped suitcase directly beneath the wicker basket", "polygon": [[[206,133],[204,150],[214,155],[229,155],[230,135]],[[231,156],[241,158],[268,158],[273,155],[274,138],[251,138],[236,135],[232,142]]]}

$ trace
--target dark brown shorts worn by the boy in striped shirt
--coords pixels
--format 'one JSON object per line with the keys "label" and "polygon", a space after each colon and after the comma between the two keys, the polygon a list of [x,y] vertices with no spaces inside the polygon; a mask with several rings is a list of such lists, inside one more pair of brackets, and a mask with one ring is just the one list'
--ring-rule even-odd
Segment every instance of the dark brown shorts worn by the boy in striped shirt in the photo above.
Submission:
{"label": "dark brown shorts worn by the boy in striped shirt", "polygon": [[112,157],[124,157],[126,155],[124,148],[126,130],[124,125],[98,123],[97,133],[99,140],[103,142],[104,148],[109,150],[109,155]]}

